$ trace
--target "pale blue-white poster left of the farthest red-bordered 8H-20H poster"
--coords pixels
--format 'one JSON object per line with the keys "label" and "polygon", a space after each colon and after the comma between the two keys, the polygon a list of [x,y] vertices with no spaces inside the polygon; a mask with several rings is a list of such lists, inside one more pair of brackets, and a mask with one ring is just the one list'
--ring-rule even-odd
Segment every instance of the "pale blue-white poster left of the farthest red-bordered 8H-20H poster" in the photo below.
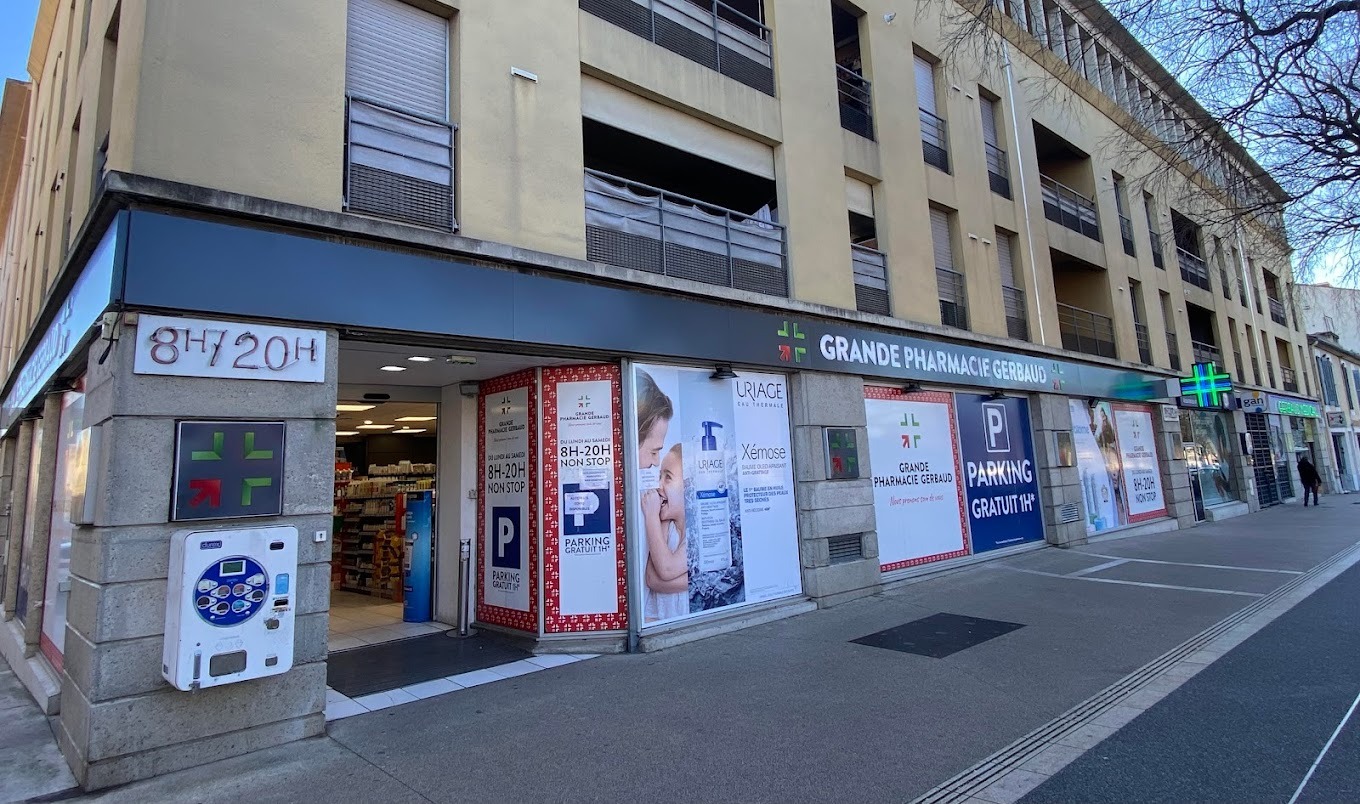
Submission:
{"label": "pale blue-white poster left of the farthest red-bordered 8H-20H poster", "polygon": [[1114,411],[1106,401],[1091,405],[1074,399],[1068,405],[1072,409],[1072,441],[1081,473],[1087,533],[1122,528],[1129,524],[1129,502],[1119,465]]}

